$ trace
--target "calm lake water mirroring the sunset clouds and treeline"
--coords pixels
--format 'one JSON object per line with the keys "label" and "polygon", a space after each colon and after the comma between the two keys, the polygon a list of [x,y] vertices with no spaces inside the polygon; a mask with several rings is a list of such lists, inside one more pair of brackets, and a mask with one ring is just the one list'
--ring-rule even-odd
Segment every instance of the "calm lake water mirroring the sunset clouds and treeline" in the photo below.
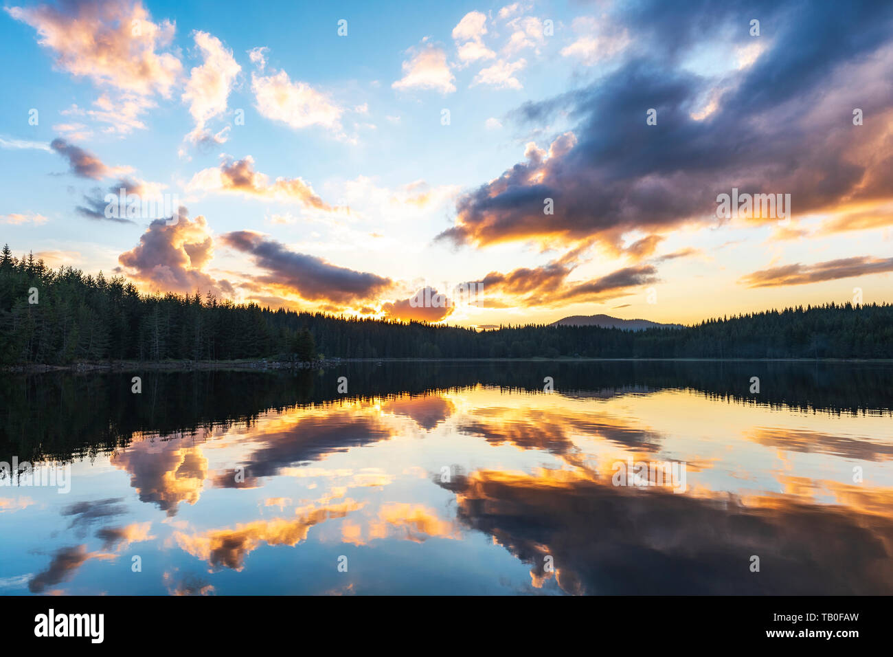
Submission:
{"label": "calm lake water mirroring the sunset clouds and treeline", "polygon": [[0,402],[0,459],[71,464],[68,493],[0,481],[0,594],[893,594],[890,364],[6,376]]}

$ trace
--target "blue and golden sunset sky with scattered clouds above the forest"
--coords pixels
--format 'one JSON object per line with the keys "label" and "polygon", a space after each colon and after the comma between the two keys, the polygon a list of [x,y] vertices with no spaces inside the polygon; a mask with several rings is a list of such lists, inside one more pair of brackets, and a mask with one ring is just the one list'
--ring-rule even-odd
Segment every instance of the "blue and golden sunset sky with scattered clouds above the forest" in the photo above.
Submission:
{"label": "blue and golden sunset sky with scattered clouds above the forest", "polygon": [[7,2],[0,55],[0,242],[140,291],[478,327],[893,301],[889,2]]}

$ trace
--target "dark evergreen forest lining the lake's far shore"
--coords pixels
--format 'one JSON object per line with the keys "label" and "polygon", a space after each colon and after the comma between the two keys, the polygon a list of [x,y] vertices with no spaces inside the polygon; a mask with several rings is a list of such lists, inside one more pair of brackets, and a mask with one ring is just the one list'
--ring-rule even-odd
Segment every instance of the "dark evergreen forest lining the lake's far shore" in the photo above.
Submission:
{"label": "dark evergreen forest lining the lake's far shore", "polygon": [[[36,302],[35,302],[36,301]],[[459,326],[141,294],[121,276],[0,255],[0,365],[251,358],[893,358],[893,305],[828,303],[630,332]]]}

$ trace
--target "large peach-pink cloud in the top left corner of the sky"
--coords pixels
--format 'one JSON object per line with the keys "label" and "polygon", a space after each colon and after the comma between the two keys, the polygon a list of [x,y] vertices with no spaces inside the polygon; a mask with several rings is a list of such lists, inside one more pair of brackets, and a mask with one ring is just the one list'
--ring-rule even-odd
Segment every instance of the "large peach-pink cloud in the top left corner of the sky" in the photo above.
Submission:
{"label": "large peach-pink cloud in the top left corner of the sky", "polygon": [[114,101],[100,97],[99,121],[111,132],[145,128],[136,118],[154,106],[154,95],[171,97],[182,64],[171,53],[175,26],[154,23],[140,2],[63,2],[58,7],[7,7],[15,20],[38,31],[38,43],[54,51],[56,66],[98,88],[113,88]]}

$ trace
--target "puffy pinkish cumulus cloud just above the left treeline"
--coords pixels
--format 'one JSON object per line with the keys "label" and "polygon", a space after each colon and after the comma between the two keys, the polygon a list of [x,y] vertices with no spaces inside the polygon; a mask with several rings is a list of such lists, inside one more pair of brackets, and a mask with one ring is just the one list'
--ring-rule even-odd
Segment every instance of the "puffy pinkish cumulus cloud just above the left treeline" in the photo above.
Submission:
{"label": "puffy pinkish cumulus cloud just above the left treeline", "polygon": [[149,224],[138,246],[122,253],[118,262],[130,278],[163,291],[191,294],[212,291],[219,297],[232,297],[228,281],[216,281],[203,271],[213,257],[213,239],[204,216],[189,221],[187,209],[179,208],[177,223],[164,219]]}

